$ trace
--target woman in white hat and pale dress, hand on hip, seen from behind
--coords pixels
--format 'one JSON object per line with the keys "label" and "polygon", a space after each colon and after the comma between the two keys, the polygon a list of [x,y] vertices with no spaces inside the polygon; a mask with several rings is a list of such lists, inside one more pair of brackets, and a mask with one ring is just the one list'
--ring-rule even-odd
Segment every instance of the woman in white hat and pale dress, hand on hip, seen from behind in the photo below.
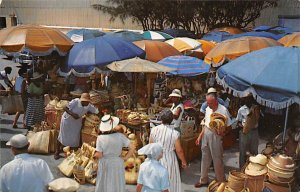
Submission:
{"label": "woman in white hat and pale dress, hand on hip, seen from behind", "polygon": [[[101,135],[97,138],[95,158],[99,159],[95,192],[125,192],[124,161],[135,151],[124,134],[114,130],[119,118],[104,115],[99,126]],[[128,147],[125,157],[120,157],[122,148]]]}

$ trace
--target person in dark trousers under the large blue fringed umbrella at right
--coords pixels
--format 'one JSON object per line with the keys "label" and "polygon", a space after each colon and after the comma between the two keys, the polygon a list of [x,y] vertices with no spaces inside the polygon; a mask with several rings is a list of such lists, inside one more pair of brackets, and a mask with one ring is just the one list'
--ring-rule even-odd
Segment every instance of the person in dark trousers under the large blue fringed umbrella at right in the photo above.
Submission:
{"label": "person in dark trousers under the large blue fringed umbrella at right", "polygon": [[259,106],[253,104],[252,96],[243,98],[244,105],[238,110],[236,117],[238,127],[242,128],[239,133],[239,165],[240,168],[246,163],[246,153],[251,155],[258,153],[258,121]]}

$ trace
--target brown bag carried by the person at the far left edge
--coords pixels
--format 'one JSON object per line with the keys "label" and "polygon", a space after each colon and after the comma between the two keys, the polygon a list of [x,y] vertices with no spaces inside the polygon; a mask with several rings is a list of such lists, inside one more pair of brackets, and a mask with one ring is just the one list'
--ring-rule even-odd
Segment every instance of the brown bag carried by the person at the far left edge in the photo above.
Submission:
{"label": "brown bag carried by the person at the far left edge", "polygon": [[24,111],[23,101],[21,95],[9,95],[2,97],[2,111],[1,113],[15,114],[18,111]]}

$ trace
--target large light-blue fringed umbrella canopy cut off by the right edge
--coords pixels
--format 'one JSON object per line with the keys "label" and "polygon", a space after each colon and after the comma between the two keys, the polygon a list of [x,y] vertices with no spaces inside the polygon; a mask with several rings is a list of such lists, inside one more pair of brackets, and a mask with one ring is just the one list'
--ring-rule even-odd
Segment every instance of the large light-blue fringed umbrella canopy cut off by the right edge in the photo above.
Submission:
{"label": "large light-blue fringed umbrella canopy cut off by the right edge", "polygon": [[269,47],[220,67],[217,81],[235,96],[252,93],[265,106],[281,109],[300,104],[300,48]]}

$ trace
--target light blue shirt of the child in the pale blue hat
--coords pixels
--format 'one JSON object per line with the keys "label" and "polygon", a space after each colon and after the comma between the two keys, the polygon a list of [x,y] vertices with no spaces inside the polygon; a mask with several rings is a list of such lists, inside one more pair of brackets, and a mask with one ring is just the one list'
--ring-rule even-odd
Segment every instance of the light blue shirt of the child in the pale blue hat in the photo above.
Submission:
{"label": "light blue shirt of the child in the pale blue hat", "polygon": [[143,192],[161,192],[169,189],[168,170],[159,161],[146,159],[140,166],[137,183],[143,185]]}

